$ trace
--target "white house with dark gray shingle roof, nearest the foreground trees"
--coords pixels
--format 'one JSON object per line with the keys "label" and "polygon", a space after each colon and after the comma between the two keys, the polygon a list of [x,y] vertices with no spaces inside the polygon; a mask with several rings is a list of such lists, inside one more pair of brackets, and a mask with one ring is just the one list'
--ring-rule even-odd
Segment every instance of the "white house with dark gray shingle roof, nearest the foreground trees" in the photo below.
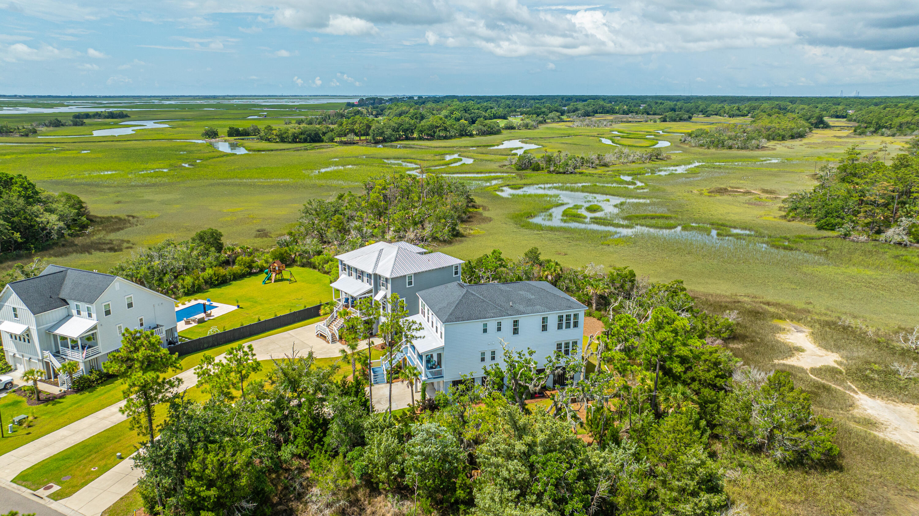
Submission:
{"label": "white house with dark gray shingle roof, nearest the foreground trees", "polygon": [[555,352],[581,350],[586,307],[544,281],[458,281],[418,292],[418,299],[411,319],[422,331],[396,358],[417,367],[429,391],[457,385],[460,375],[482,381],[483,366],[504,365],[502,341],[518,351],[532,349],[539,365]]}

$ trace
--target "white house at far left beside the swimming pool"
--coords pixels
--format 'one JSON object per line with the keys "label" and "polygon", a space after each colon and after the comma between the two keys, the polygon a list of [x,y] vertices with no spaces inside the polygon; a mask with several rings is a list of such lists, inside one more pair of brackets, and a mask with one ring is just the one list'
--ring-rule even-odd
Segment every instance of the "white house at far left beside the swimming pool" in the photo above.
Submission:
{"label": "white house at far left beside the swimming pool", "polygon": [[0,335],[6,361],[48,378],[68,360],[98,369],[121,347],[127,329],[175,341],[176,300],[115,275],[50,265],[0,291]]}

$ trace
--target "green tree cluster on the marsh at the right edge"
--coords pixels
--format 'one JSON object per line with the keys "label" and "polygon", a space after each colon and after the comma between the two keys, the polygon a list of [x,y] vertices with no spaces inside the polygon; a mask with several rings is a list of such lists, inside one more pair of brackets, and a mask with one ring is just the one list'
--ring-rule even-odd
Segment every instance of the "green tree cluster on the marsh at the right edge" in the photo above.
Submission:
{"label": "green tree cluster on the marsh at the right edge", "polygon": [[919,137],[891,164],[887,153],[886,145],[868,153],[848,148],[835,166],[821,167],[811,191],[783,201],[786,214],[856,240],[919,243]]}

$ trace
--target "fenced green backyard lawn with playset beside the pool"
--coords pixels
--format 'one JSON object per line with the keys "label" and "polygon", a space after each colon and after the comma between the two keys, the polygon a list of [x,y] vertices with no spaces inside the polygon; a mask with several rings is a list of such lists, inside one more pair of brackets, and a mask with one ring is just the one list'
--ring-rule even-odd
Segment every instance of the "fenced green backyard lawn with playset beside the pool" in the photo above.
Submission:
{"label": "fenced green backyard lawn with playset beside the pool", "polygon": [[212,326],[224,331],[332,299],[328,275],[306,267],[290,267],[288,270],[293,272],[297,281],[289,283],[285,280],[262,285],[265,275],[259,274],[211,288],[194,296],[182,297],[179,302],[210,299],[228,305],[238,303],[240,308],[185,331],[182,330],[183,323],[179,322],[179,331],[183,336],[194,339],[207,335]]}

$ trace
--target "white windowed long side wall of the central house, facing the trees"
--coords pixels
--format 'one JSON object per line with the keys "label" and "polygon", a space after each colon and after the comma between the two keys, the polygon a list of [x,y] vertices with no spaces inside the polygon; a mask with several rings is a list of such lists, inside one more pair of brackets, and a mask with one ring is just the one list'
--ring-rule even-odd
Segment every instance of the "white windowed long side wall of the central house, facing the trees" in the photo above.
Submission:
{"label": "white windowed long side wall of the central house, facing the trees", "polygon": [[[579,328],[569,330],[556,329],[556,317],[559,314],[578,313]],[[549,317],[549,330],[541,331],[542,318]],[[513,321],[520,320],[520,334],[514,335]],[[495,322],[501,321],[501,332],[495,331]],[[488,333],[482,333],[482,323],[488,323]],[[527,348],[536,353],[533,358],[540,367],[545,365],[546,357],[555,353],[555,343],[564,341],[577,341],[578,345],[584,342],[584,310],[570,310],[550,312],[545,314],[525,315],[519,317],[471,320],[464,322],[451,322],[444,325],[444,381],[459,380],[460,375],[472,375],[476,378],[482,376],[482,366],[500,364],[504,350],[501,339],[507,347],[517,351]],[[492,362],[489,352],[495,351],[497,359]],[[480,361],[482,352],[485,353],[485,362]]]}

